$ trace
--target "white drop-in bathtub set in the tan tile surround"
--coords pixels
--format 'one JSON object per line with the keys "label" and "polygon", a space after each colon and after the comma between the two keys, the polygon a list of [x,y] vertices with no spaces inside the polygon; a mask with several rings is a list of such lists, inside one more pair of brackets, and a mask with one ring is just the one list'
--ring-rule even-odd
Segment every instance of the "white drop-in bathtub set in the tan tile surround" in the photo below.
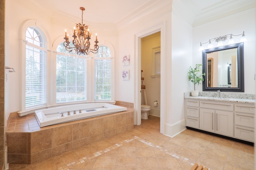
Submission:
{"label": "white drop-in bathtub set in the tan tile surround", "polygon": [[127,111],[127,108],[113,104],[95,103],[41,109],[36,110],[35,115],[39,126],[45,127],[120,111]]}

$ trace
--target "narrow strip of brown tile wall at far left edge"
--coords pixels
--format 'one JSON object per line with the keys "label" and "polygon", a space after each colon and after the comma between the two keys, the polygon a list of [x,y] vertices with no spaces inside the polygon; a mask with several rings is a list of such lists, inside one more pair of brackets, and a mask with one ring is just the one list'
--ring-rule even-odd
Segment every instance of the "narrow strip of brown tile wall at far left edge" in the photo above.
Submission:
{"label": "narrow strip of brown tile wall at far left edge", "polygon": [[4,12],[5,0],[0,0],[0,169],[4,169]]}

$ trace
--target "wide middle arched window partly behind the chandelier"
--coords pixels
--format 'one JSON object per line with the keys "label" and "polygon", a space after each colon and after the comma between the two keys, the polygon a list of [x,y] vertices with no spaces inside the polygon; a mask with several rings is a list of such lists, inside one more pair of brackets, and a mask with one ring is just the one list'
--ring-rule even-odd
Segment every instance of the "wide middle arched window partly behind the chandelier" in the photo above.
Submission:
{"label": "wide middle arched window partly behind the chandelier", "polygon": [[86,58],[67,53],[61,43],[56,55],[56,103],[86,101]]}

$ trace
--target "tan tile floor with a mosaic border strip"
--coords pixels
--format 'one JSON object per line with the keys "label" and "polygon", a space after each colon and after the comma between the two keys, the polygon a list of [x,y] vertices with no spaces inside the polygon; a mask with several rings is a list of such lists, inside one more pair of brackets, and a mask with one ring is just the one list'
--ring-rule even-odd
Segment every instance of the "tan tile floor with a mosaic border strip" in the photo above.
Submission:
{"label": "tan tile floor with a mosaic border strip", "polygon": [[36,164],[9,164],[9,170],[254,170],[254,147],[186,129],[160,134],[160,118],[150,116],[131,131],[54,156]]}

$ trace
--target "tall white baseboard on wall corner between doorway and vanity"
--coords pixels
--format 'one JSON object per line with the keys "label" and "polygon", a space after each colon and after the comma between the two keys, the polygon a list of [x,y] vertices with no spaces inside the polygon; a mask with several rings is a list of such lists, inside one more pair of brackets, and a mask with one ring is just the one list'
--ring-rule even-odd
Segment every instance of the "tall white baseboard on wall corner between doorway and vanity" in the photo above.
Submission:
{"label": "tall white baseboard on wall corner between doorway and vanity", "polygon": [[166,123],[164,125],[164,135],[168,137],[175,137],[184,130],[186,130],[185,119],[173,124]]}

